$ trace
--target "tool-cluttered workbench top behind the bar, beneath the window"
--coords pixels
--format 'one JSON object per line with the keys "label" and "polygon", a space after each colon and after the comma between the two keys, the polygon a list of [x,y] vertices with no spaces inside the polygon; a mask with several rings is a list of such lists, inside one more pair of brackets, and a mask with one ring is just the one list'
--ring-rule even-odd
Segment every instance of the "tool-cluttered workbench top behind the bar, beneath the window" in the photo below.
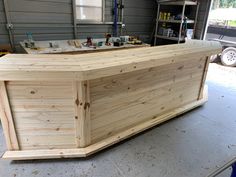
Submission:
{"label": "tool-cluttered workbench top behind the bar, beneath the window", "polygon": [[[129,48],[140,48],[140,47],[150,47],[149,44],[140,44],[140,45],[133,45],[133,44],[124,44],[122,46],[110,46],[105,45],[106,39],[93,39],[93,42],[97,43],[102,41],[103,45],[101,47],[86,47],[82,46],[81,48],[77,48],[75,46],[71,46],[68,44],[69,40],[54,40],[54,41],[34,41],[36,49],[26,48],[24,42],[20,42],[23,51],[27,54],[83,54],[83,53],[93,53],[93,52],[104,52],[104,51],[112,51],[112,50],[122,50],[122,49],[129,49]],[[73,41],[73,40],[72,40]],[[80,43],[86,42],[86,39],[79,39]],[[58,44],[58,48],[53,48],[49,46],[49,43]]]}

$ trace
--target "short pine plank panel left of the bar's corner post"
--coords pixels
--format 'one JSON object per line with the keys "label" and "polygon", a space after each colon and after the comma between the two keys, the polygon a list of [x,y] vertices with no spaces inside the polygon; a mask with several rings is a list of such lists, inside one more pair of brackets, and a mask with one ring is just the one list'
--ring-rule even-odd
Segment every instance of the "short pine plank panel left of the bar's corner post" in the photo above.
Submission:
{"label": "short pine plank panel left of the bar's corner post", "polygon": [[75,148],[70,82],[7,82],[21,150]]}

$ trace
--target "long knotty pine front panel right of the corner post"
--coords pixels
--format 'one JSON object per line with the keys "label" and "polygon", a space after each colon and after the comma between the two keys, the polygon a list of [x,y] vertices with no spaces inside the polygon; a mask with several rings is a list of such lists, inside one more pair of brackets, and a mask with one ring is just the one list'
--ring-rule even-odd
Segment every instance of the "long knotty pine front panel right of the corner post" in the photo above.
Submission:
{"label": "long knotty pine front panel right of the corner post", "polygon": [[201,58],[91,80],[92,143],[196,101],[205,61]]}

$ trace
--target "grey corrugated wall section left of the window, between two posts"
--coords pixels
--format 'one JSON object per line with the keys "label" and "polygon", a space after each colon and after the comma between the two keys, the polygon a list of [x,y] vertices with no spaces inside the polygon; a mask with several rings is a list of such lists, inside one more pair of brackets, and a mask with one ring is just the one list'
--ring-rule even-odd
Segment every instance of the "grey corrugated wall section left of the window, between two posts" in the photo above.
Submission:
{"label": "grey corrugated wall section left of the window, between two posts", "polygon": [[32,32],[35,40],[73,38],[71,0],[8,0],[16,43]]}

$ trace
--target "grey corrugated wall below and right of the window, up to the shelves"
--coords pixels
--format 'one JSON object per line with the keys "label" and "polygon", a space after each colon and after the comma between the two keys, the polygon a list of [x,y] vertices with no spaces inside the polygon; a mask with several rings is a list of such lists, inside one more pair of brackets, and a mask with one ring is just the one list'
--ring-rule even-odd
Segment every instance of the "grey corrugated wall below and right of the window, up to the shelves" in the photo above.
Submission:
{"label": "grey corrugated wall below and right of the window, up to the shelves", "polygon": [[[154,0],[125,0],[124,23],[122,35],[136,35],[142,40],[150,42],[150,35],[154,27],[156,16],[156,2]],[[112,0],[106,0],[105,21],[112,22]],[[119,26],[120,27],[120,26]],[[112,33],[112,25],[79,25],[78,37],[104,37],[104,33]]]}

